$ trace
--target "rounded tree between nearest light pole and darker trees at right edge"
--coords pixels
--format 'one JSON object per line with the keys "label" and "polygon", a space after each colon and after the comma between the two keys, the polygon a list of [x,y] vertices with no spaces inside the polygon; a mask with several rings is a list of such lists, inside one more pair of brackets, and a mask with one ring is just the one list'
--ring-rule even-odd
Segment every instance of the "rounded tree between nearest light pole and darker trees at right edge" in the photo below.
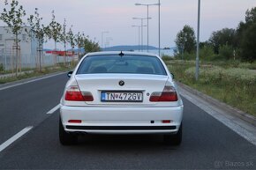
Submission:
{"label": "rounded tree between nearest light pole and darker trees at right edge", "polygon": [[209,42],[215,50],[215,54],[219,54],[222,46],[229,45],[236,48],[235,43],[236,30],[232,28],[223,28],[222,30],[212,33]]}

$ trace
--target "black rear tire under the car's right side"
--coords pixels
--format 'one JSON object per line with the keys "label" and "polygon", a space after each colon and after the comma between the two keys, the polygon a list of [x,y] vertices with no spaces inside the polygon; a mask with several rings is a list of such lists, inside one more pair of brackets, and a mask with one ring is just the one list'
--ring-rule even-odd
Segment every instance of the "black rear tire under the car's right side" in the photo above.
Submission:
{"label": "black rear tire under the car's right side", "polygon": [[180,145],[182,142],[182,123],[177,131],[177,134],[169,134],[163,136],[164,144]]}

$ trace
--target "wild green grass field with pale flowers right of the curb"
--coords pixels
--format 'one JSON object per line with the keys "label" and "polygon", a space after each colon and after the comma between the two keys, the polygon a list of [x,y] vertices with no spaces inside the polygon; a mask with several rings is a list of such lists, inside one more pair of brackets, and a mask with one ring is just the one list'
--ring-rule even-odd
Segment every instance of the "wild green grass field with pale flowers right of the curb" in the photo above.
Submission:
{"label": "wild green grass field with pale flowers right of the curb", "polygon": [[201,63],[199,81],[194,62],[166,63],[177,81],[256,116],[256,72],[250,70],[255,63]]}

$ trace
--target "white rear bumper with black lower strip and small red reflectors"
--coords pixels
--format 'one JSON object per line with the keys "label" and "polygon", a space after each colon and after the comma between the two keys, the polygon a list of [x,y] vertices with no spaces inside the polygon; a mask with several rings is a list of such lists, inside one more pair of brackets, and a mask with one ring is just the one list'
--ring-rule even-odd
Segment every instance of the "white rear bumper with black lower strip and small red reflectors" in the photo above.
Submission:
{"label": "white rear bumper with black lower strip and small red reflectors", "polygon": [[[177,133],[183,117],[180,107],[60,107],[67,132],[94,134]],[[81,120],[71,123],[69,120]],[[163,123],[163,120],[169,120]]]}

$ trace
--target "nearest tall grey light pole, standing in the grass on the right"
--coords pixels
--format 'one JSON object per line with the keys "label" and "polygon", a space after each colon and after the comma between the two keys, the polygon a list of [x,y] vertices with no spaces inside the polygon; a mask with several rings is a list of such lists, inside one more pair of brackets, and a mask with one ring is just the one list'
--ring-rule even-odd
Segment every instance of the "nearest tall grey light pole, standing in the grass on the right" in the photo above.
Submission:
{"label": "nearest tall grey light pole, standing in the grass on the right", "polygon": [[199,79],[200,72],[200,0],[198,4],[198,35],[197,35],[197,57],[196,57],[196,80]]}

